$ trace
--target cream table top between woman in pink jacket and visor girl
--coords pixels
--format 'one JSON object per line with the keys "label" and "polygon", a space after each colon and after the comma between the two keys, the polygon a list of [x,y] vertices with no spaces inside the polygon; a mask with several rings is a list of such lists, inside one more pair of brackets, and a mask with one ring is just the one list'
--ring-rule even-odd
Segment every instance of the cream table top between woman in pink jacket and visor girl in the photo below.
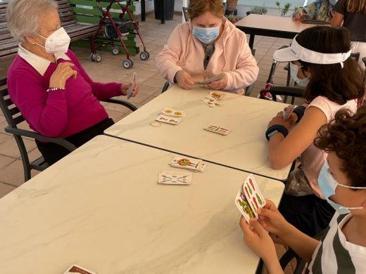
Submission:
{"label": "cream table top between woman in pink jacket and visor girl", "polygon": [[[243,171],[285,180],[291,165],[272,169],[267,158],[265,131],[270,119],[284,109],[283,103],[225,93],[220,107],[208,107],[202,98],[208,89],[189,91],[173,86],[165,93],[120,120],[104,133],[127,141],[151,145],[191,157],[205,159]],[[184,110],[187,117],[177,125],[151,126],[165,107]],[[217,124],[232,131],[221,136],[203,130]]]}

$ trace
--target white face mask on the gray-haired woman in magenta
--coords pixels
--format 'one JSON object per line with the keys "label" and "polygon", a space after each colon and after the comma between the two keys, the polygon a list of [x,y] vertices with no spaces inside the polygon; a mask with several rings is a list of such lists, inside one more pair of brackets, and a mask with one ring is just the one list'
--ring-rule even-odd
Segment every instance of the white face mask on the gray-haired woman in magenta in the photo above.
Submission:
{"label": "white face mask on the gray-haired woman in magenta", "polygon": [[44,44],[44,46],[38,43],[36,44],[45,48],[47,53],[66,53],[68,51],[70,37],[63,27],[60,27],[47,38],[40,34],[38,35],[46,40],[46,44]]}

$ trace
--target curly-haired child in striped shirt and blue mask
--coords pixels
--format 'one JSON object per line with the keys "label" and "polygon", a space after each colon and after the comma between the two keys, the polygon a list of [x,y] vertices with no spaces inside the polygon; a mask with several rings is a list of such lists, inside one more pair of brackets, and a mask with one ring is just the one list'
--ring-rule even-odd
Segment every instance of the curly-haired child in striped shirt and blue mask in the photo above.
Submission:
{"label": "curly-haired child in striped shirt and blue mask", "polygon": [[288,223],[271,201],[250,225],[240,220],[244,242],[263,258],[269,273],[283,273],[272,238],[280,237],[303,259],[308,273],[366,273],[366,107],[339,110],[314,143],[328,153],[318,183],[336,213],[321,240]]}

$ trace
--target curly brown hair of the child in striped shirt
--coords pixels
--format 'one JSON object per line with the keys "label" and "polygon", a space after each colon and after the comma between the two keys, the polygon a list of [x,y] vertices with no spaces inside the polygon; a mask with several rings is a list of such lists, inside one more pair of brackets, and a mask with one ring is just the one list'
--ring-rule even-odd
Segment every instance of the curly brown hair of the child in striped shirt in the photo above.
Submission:
{"label": "curly brown hair of the child in striped shirt", "polygon": [[355,115],[345,109],[336,112],[334,120],[319,129],[314,145],[336,153],[352,186],[366,186],[366,106]]}

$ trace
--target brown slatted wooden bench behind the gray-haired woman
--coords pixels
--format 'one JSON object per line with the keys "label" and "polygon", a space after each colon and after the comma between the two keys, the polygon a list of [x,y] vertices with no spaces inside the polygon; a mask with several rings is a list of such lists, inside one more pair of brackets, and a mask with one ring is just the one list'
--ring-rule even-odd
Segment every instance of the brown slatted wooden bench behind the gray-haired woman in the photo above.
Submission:
{"label": "brown slatted wooden bench behind the gray-haired woman", "polygon": [[[94,34],[98,25],[80,24],[75,20],[68,0],[55,0],[58,4],[58,15],[61,26],[68,32],[71,41],[90,38],[94,39]],[[18,52],[18,41],[16,41],[6,27],[6,8],[8,3],[0,4],[0,62],[12,59]]]}

